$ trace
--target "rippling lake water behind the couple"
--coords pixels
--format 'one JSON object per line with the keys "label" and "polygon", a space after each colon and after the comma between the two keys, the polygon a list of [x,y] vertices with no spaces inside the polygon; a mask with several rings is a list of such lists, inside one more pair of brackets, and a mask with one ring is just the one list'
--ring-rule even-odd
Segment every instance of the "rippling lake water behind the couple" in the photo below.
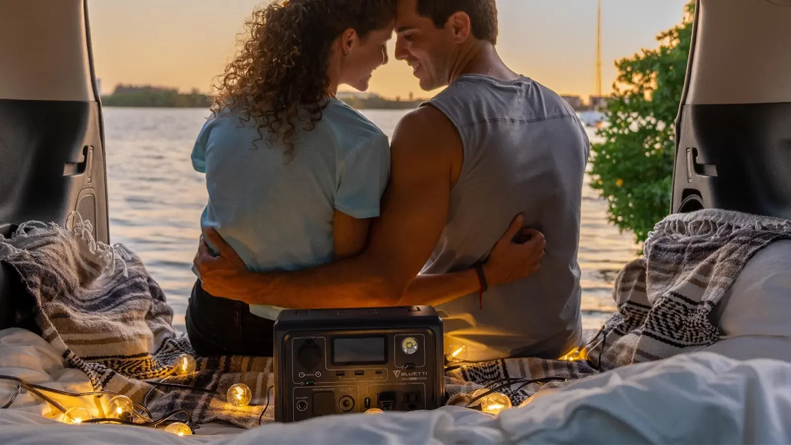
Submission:
{"label": "rippling lake water behind the couple", "polygon": [[[404,110],[363,111],[392,135]],[[174,325],[184,329],[195,276],[199,218],[206,205],[203,175],[190,153],[204,109],[104,108],[110,241],[123,243],[146,263],[173,306]],[[596,140],[589,129],[592,141]],[[607,202],[586,184],[582,190],[579,263],[585,328],[597,329],[615,310],[612,283],[638,253],[631,234],[619,234],[606,219]]]}

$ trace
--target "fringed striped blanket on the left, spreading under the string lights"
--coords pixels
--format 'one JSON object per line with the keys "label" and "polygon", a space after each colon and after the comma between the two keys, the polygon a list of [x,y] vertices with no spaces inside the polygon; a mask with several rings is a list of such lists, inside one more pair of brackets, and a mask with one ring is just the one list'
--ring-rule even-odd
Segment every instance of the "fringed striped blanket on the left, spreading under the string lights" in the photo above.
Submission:
{"label": "fringed striped blanket on the left, spreading under the string lights", "polygon": [[[272,359],[196,357],[195,373],[174,375],[178,356],[195,352],[187,335],[173,329],[164,293],[134,253],[123,245],[95,242],[91,233],[89,222],[74,216],[71,230],[28,222],[12,238],[0,237],[0,261],[21,276],[36,300],[42,336],[66,363],[85,371],[94,390],[145,402],[155,418],[185,409],[193,424],[225,420],[252,428],[272,420],[272,404],[262,416],[267,393],[274,396]],[[253,405],[239,408],[209,392],[152,382],[220,394],[242,382],[253,392]]]}

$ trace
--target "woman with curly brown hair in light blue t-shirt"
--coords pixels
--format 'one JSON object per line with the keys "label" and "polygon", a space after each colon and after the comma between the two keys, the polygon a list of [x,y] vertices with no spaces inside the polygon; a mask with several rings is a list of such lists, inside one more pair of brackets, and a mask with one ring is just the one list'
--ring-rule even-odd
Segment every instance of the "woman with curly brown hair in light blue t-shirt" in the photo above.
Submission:
{"label": "woman with curly brown hair in light blue t-shirt", "polygon": [[[310,268],[365,248],[388,139],[335,94],[341,84],[365,91],[387,63],[394,16],[395,0],[293,0],[248,21],[192,162],[209,191],[202,229],[218,230],[249,270]],[[201,356],[271,356],[281,309],[209,295],[198,280],[187,333]]]}

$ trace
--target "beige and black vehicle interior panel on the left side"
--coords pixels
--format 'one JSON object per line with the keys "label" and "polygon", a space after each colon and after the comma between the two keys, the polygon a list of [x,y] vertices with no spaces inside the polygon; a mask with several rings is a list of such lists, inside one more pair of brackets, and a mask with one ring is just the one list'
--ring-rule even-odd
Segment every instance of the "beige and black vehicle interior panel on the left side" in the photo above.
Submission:
{"label": "beige and black vehicle interior panel on the left side", "polygon": [[0,227],[72,211],[109,241],[87,0],[0,0]]}

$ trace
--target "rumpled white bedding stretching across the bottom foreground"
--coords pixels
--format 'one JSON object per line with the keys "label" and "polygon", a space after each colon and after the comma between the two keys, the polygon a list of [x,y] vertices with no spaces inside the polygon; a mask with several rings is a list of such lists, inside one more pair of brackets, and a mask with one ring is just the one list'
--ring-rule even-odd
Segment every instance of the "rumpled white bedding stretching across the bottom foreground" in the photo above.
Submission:
{"label": "rumpled white bedding stretching across the bottom foreground", "polygon": [[[90,390],[33,333],[0,331],[0,374]],[[0,405],[16,386],[0,384]],[[69,405],[74,405],[70,401]],[[97,414],[89,398],[82,406]],[[0,410],[0,443],[791,443],[791,363],[710,352],[642,363],[574,382],[498,418],[471,409],[323,417],[230,434],[178,437],[149,428],[66,425],[22,394]]]}

